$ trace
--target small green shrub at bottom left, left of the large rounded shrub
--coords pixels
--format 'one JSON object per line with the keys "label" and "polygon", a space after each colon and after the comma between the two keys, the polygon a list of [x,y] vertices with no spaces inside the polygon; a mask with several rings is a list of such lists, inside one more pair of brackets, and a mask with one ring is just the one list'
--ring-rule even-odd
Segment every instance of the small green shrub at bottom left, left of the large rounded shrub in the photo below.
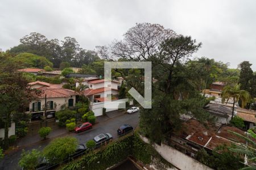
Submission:
{"label": "small green shrub at bottom left, left of the large rounded shrub", "polygon": [[22,150],[19,166],[24,169],[35,169],[39,165],[41,155],[40,151],[35,149],[27,152]]}

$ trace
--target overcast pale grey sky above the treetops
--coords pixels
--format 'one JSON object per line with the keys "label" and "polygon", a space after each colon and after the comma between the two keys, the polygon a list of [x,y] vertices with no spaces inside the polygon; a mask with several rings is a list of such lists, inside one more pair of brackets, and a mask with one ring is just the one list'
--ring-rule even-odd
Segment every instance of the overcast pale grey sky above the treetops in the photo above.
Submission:
{"label": "overcast pale grey sky above the treetops", "polygon": [[121,39],[135,23],[162,24],[190,35],[209,57],[236,68],[242,61],[256,71],[256,1],[1,0],[0,48],[9,49],[30,32],[48,39],[75,37],[84,49]]}

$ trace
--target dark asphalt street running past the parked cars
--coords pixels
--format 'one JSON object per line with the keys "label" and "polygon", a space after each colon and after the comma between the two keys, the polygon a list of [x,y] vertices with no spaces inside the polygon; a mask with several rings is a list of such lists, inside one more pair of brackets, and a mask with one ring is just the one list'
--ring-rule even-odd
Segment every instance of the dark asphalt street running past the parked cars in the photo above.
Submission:
{"label": "dark asphalt street running past the parked cars", "polygon": [[[135,128],[137,127],[138,123],[139,123],[139,113],[120,114],[120,116],[110,118],[109,120],[106,120],[104,122],[94,125],[91,130],[84,131],[79,134],[71,133],[69,135],[76,137],[79,143],[86,143],[86,141],[89,141],[90,139],[92,139],[93,137],[101,133],[110,133],[113,135],[113,138],[118,138],[117,129],[119,128],[119,126],[123,124],[130,124]],[[48,143],[49,141],[46,141],[40,144],[28,146],[24,148],[24,150],[28,151],[28,150],[32,150],[33,148],[36,148],[38,150],[43,150],[43,148],[46,147]],[[3,158],[3,160],[1,160],[0,162],[0,169],[4,169],[4,170],[21,169],[18,166],[20,154],[22,154],[22,150],[18,150],[9,155],[5,155],[5,158]]]}

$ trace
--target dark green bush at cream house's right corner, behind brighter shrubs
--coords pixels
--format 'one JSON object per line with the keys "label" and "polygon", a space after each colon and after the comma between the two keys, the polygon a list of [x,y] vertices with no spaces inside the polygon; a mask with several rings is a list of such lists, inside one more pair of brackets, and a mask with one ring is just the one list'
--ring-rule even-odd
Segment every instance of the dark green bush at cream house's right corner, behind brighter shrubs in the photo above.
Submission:
{"label": "dark green bush at cream house's right corner, behind brighter shrubs", "polygon": [[56,112],[56,118],[59,120],[59,126],[65,126],[67,120],[71,120],[71,118],[76,118],[76,111],[71,111],[69,109],[65,109],[62,111]]}

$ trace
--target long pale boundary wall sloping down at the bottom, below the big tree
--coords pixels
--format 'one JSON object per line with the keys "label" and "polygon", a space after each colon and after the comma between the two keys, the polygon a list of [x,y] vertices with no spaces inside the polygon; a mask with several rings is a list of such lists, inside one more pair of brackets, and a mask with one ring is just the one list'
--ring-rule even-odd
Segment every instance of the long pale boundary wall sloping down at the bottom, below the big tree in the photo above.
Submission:
{"label": "long pale boundary wall sloping down at the bottom, below the big tree", "polygon": [[[148,139],[146,137],[142,137],[141,139],[149,143]],[[211,169],[207,167],[207,165],[204,165],[197,160],[183,154],[182,152],[176,150],[175,148],[172,148],[168,145],[161,144],[161,146],[154,144],[153,145],[155,150],[169,163],[173,164],[175,167],[182,169],[182,170],[203,170],[203,169]]]}

